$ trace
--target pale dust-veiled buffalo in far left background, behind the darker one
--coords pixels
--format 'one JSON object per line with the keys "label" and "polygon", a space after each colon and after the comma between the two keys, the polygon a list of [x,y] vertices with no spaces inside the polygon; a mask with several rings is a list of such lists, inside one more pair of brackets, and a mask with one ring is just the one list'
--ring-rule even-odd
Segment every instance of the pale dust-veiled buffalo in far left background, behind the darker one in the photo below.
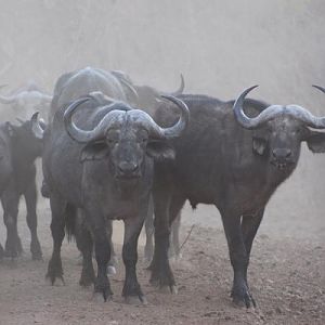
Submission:
{"label": "pale dust-veiled buffalo in far left background, behind the darker one", "polygon": [[36,110],[40,112],[42,118],[47,119],[50,112],[52,96],[46,93],[35,82],[29,81],[26,86],[21,87],[11,94],[0,95],[0,103],[9,105],[11,109],[5,109],[1,116],[6,120],[15,118],[27,119]]}

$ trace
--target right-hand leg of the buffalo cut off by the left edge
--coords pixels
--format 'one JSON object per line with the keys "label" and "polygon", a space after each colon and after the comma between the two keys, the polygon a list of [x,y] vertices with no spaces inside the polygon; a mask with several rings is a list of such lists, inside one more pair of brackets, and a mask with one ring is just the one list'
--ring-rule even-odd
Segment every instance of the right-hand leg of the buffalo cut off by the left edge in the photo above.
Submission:
{"label": "right-hand leg of the buffalo cut off by the left edge", "polygon": [[42,259],[42,251],[37,236],[37,214],[36,214],[36,202],[37,192],[35,180],[29,184],[27,191],[24,194],[27,209],[27,225],[30,231],[31,242],[30,242],[30,252],[34,260]]}

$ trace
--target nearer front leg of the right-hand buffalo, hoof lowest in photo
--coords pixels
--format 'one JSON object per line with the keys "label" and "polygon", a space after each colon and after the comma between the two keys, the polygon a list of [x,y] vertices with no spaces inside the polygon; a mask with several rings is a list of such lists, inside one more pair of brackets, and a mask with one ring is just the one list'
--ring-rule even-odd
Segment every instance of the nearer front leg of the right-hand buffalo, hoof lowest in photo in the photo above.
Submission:
{"label": "nearer front leg of the right-hand buffalo, hoof lowest in photo", "polygon": [[233,301],[236,304],[245,303],[245,306],[249,308],[251,304],[255,306],[255,301],[249,292],[245,277],[248,266],[248,255],[242,232],[240,216],[224,211],[221,212],[221,216],[227,240],[230,259],[234,270],[232,288]]}

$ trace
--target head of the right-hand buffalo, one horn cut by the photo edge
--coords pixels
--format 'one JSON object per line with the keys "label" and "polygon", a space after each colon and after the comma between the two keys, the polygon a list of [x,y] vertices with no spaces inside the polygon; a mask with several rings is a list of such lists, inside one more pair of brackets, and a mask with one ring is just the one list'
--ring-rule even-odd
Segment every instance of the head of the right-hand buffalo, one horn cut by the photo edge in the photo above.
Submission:
{"label": "head of the right-hand buffalo, one horn cut by the photo edge", "polygon": [[276,168],[285,170],[296,166],[300,143],[306,141],[313,153],[325,152],[325,117],[315,117],[298,105],[271,105],[257,117],[250,118],[243,110],[245,96],[257,86],[246,89],[234,104],[234,114],[245,129],[253,130],[252,150],[265,156]]}

